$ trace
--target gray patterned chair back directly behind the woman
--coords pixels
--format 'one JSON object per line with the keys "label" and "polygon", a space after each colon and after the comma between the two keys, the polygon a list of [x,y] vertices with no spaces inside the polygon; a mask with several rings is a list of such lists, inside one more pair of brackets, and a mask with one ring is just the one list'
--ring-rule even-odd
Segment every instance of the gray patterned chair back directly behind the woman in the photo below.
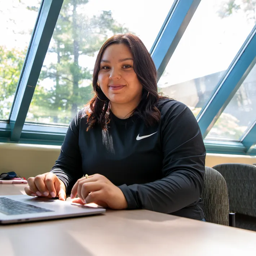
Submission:
{"label": "gray patterned chair back directly behind the woman", "polygon": [[226,181],[218,171],[210,167],[205,168],[201,198],[206,221],[229,226],[229,200]]}

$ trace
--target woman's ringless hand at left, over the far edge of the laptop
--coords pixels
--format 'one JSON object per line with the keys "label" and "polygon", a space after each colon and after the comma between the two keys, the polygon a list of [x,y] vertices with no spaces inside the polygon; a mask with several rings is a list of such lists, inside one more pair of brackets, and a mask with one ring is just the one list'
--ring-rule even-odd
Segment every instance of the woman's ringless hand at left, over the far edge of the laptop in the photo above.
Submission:
{"label": "woman's ringless hand at left, over the far edge of the laptop", "polygon": [[30,177],[27,182],[28,186],[25,187],[27,195],[32,197],[58,197],[59,200],[66,200],[65,184],[52,172]]}

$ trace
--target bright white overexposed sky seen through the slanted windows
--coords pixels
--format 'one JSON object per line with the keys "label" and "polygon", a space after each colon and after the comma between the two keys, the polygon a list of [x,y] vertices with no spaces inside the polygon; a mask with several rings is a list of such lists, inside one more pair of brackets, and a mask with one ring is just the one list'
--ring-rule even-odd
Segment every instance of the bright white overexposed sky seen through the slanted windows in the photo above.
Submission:
{"label": "bright white overexposed sky seen through the slanted windows", "polygon": [[[200,76],[226,70],[252,30],[254,23],[248,22],[243,12],[221,19],[217,11],[228,0],[202,0],[187,27],[178,47],[168,63],[159,86],[169,86]],[[35,4],[35,0],[23,0],[26,5]],[[112,17],[135,32],[150,50],[154,43],[173,0],[89,0],[78,12],[88,16],[100,14],[102,10],[111,10]],[[18,0],[0,0],[0,44],[8,48],[24,48],[30,41],[30,35],[14,34],[13,31],[32,30],[37,17],[26,5]],[[14,7],[13,7],[14,6]],[[15,23],[10,22],[13,19]],[[80,57],[79,64],[93,69],[96,57]],[[45,64],[54,61],[49,54]],[[49,82],[49,81],[48,81]],[[49,85],[49,83],[45,83]]]}

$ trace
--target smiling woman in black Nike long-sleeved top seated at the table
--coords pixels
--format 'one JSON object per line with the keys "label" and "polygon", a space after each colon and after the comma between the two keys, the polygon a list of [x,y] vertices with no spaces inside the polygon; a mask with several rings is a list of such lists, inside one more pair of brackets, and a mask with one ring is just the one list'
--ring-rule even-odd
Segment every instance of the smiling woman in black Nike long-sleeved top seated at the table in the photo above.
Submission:
{"label": "smiling woman in black Nike long-sleeved top seated at the table", "polygon": [[203,138],[187,106],[158,95],[156,75],[137,36],[108,39],[95,96],[72,120],[52,170],[30,177],[26,193],[65,200],[72,189],[78,203],[203,220]]}

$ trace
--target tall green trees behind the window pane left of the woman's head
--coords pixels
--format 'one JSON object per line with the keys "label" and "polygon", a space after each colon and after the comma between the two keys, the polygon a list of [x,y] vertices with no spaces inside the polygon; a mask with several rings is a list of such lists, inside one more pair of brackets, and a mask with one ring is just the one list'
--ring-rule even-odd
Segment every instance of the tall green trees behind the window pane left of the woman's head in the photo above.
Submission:
{"label": "tall green trees behind the window pane left of the woman's head", "polygon": [[[92,70],[82,67],[83,56],[94,56],[108,37],[128,32],[113,18],[111,11],[87,17],[88,0],[65,0],[48,49],[49,65],[44,65],[30,107],[31,119],[68,124],[79,108],[92,97]],[[30,10],[36,10],[29,6]],[[51,79],[54,85],[45,89]],[[87,84],[86,84],[87,82]]]}

